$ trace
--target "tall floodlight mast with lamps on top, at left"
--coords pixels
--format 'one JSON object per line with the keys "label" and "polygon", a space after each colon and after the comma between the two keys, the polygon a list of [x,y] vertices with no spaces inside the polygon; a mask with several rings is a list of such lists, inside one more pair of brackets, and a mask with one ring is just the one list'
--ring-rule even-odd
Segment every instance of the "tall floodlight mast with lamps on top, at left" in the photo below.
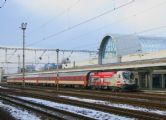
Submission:
{"label": "tall floodlight mast with lamps on top, at left", "polygon": [[23,55],[22,55],[22,62],[23,62],[23,69],[22,69],[22,78],[23,78],[23,87],[25,87],[25,30],[27,27],[27,23],[21,24],[21,29],[23,31]]}

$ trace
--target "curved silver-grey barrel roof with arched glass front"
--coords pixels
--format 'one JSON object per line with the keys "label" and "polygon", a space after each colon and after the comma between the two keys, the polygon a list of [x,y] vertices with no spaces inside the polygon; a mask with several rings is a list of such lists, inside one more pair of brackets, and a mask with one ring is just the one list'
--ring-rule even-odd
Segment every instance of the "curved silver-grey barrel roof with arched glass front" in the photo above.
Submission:
{"label": "curved silver-grey barrel roof with arched glass front", "polygon": [[118,61],[123,55],[159,50],[166,50],[164,37],[108,34],[104,36],[100,44],[99,64]]}

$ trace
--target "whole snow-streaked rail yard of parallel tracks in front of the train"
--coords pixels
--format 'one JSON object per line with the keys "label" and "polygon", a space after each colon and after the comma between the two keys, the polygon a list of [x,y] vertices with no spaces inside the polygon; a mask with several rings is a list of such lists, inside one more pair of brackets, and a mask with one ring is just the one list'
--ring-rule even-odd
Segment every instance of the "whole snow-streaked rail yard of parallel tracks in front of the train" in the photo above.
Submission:
{"label": "whole snow-streaked rail yard of parallel tracks in front of the train", "polygon": [[[24,88],[6,84],[1,86],[3,86],[0,88],[1,101],[5,100],[23,109],[35,111],[41,115],[41,118],[43,114],[50,119],[164,120],[166,117],[165,94],[78,88],[59,88],[57,91],[54,87],[27,86]],[[60,107],[57,108],[58,105],[55,107],[54,103],[59,104]],[[77,107],[77,110],[72,107]],[[93,111],[95,112],[91,115]]]}

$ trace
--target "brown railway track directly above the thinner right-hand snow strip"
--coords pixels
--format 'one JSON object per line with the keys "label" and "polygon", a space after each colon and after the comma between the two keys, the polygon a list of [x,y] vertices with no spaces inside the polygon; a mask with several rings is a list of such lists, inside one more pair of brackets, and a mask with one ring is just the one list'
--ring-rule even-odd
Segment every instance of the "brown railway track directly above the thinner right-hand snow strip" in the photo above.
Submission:
{"label": "brown railway track directly above the thinner right-hand snow strip", "polygon": [[[153,99],[141,99],[139,97],[128,97],[128,93],[111,93],[110,94],[95,94],[95,93],[88,93],[80,91],[66,91],[66,90],[50,90],[50,89],[39,89],[39,88],[22,88],[22,87],[14,87],[16,89],[23,89],[23,90],[29,90],[32,92],[43,92],[45,94],[52,94],[52,95],[66,95],[66,96],[76,96],[81,98],[89,98],[89,99],[98,99],[98,100],[104,100],[104,101],[110,101],[113,103],[123,103],[123,104],[129,104],[134,106],[141,106],[145,108],[151,108],[151,109],[160,109],[160,110],[166,110],[166,102],[158,100],[159,98]],[[129,94],[130,95],[130,94]],[[136,94],[134,95],[136,96]]]}

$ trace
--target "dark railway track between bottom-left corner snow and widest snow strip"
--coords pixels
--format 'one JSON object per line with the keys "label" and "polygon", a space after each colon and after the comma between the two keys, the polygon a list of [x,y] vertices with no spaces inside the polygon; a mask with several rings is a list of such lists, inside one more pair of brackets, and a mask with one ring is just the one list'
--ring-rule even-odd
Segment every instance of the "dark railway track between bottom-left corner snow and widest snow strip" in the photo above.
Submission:
{"label": "dark railway track between bottom-left corner snow and widest snow strip", "polygon": [[74,114],[64,110],[48,107],[31,101],[23,100],[18,97],[14,97],[7,94],[0,93],[0,99],[8,101],[12,104],[39,112],[41,114],[47,115],[52,119],[56,120],[94,120],[93,118],[85,117],[79,114]]}

